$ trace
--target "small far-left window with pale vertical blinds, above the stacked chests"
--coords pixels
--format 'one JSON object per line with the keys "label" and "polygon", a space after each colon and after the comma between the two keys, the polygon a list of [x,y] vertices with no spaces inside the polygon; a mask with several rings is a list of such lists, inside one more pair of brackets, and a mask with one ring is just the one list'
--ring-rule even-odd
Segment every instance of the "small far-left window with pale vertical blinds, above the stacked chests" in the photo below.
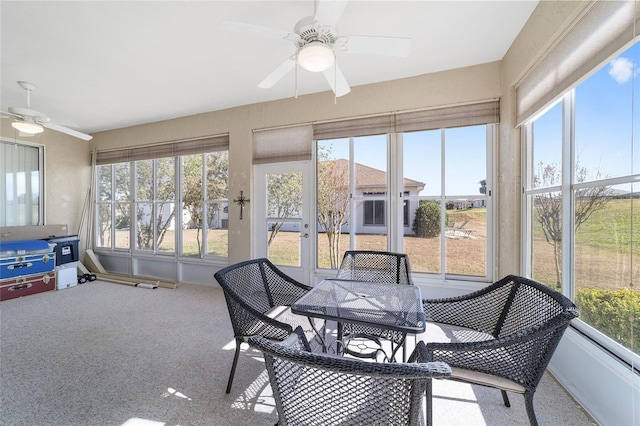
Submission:
{"label": "small far-left window with pale vertical blinds, above the stacked chests", "polygon": [[0,226],[43,224],[43,148],[0,141]]}

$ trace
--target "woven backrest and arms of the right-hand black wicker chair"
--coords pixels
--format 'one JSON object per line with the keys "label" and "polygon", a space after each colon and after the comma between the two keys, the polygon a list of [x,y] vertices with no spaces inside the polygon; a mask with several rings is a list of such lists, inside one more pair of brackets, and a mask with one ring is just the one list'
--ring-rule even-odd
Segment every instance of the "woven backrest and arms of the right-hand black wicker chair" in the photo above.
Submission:
{"label": "woven backrest and arms of the right-hand black wicker chair", "polygon": [[[452,324],[491,334],[495,340],[430,343],[434,359],[514,380],[534,390],[577,307],[563,294],[534,280],[508,275],[462,296],[423,300],[428,321]],[[456,346],[456,344],[452,344]],[[479,355],[481,354],[481,356]],[[508,356],[505,356],[508,354]]]}

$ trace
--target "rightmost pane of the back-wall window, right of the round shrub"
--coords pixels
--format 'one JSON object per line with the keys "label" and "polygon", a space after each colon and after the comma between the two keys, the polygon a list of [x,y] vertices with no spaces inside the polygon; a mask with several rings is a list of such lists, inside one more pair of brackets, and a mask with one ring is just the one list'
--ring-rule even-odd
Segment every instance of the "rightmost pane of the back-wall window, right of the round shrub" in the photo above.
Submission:
{"label": "rightmost pane of the back-wall window, right of the round shrub", "polygon": [[486,126],[445,131],[446,273],[487,274]]}

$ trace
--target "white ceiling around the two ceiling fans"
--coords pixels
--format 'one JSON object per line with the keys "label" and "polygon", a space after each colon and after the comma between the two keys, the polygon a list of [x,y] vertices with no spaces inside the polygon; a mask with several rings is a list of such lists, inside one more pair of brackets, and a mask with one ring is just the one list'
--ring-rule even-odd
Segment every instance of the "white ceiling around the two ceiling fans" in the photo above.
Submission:
{"label": "white ceiling around the two ceiling fans", "polygon": [[[406,58],[337,53],[353,86],[502,59],[537,1],[352,0],[339,35],[409,37]],[[94,133],[289,98],[295,73],[262,81],[293,43],[219,30],[224,19],[293,31],[298,1],[0,1],[0,109],[25,107]],[[298,93],[330,90],[300,70]],[[346,95],[349,96],[349,95]],[[339,100],[338,100],[339,102]]]}

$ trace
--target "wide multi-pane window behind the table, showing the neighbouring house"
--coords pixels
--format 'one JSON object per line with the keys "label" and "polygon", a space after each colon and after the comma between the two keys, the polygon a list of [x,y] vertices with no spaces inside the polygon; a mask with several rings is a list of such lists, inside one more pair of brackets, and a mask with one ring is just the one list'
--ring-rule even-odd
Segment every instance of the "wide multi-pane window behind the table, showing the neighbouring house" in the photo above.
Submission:
{"label": "wide multi-pane window behind the table, showing the neighbouring house", "polygon": [[493,278],[495,125],[433,127],[317,140],[318,267],[349,249],[389,250],[414,273]]}

